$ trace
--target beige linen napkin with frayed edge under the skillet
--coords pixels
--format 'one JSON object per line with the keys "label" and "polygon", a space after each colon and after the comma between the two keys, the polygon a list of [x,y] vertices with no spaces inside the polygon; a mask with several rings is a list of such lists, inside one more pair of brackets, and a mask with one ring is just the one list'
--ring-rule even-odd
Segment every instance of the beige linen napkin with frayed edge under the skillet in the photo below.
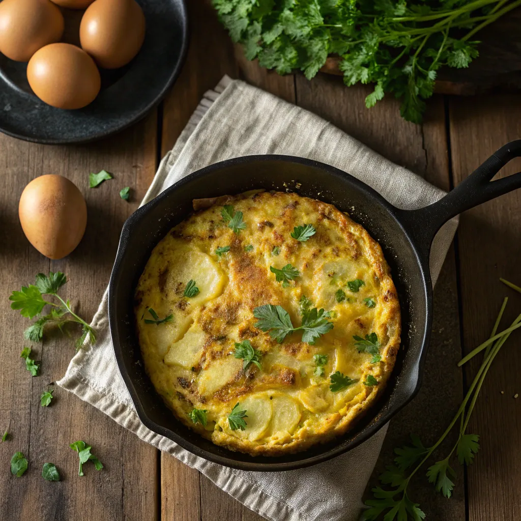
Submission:
{"label": "beige linen napkin with frayed edge under the skillet", "polygon": [[[224,77],[208,91],[162,160],[142,204],[189,173],[235,156],[290,154],[308,157],[361,179],[401,208],[419,208],[444,192],[394,165],[331,123],[276,96]],[[457,219],[439,231],[430,268],[436,281]],[[331,461],[279,473],[245,472],[210,463],[148,430],[123,384],[110,341],[107,294],[94,316],[97,342],[72,359],[58,385],[94,405],[144,441],[200,470],[218,487],[271,521],[354,521],[387,426],[356,449]],[[316,494],[316,490],[325,491]]]}

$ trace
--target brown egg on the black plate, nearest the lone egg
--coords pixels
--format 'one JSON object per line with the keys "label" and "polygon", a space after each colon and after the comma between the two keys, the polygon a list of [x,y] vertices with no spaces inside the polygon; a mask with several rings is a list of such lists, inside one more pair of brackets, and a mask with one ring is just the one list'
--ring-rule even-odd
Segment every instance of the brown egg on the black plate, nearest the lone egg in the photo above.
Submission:
{"label": "brown egg on the black plate, nearest the lone egg", "polygon": [[76,45],[53,43],[34,53],[27,65],[34,94],[58,108],[82,108],[100,92],[101,78],[93,59]]}

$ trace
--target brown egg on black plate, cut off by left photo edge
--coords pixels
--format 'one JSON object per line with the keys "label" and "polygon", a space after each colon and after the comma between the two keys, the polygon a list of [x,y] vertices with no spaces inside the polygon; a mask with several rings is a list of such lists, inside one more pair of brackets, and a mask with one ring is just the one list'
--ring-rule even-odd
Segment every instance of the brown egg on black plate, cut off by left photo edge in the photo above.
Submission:
{"label": "brown egg on black plate, cut off by left photo edge", "polygon": [[0,53],[29,61],[44,45],[57,42],[64,17],[49,0],[4,0],[0,3]]}

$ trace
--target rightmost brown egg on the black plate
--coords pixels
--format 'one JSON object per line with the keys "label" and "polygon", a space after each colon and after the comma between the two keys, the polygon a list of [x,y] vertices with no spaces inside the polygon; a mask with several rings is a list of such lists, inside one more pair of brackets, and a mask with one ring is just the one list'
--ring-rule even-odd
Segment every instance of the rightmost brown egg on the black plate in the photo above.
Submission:
{"label": "rightmost brown egg on the black plate", "polygon": [[145,15],[134,0],[96,0],[81,19],[81,46],[105,69],[128,64],[144,39]]}

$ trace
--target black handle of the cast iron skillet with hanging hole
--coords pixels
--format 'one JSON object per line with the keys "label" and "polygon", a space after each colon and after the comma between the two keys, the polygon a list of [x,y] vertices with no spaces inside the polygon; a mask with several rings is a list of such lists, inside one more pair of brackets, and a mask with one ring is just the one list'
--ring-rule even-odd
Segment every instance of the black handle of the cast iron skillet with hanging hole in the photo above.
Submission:
{"label": "black handle of the cast iron skillet with hanging hole", "polygon": [[500,195],[521,188],[521,172],[490,181],[514,157],[521,156],[521,140],[495,151],[482,165],[442,199],[417,210],[400,210],[400,220],[413,237],[424,259],[438,230],[452,217]]}

